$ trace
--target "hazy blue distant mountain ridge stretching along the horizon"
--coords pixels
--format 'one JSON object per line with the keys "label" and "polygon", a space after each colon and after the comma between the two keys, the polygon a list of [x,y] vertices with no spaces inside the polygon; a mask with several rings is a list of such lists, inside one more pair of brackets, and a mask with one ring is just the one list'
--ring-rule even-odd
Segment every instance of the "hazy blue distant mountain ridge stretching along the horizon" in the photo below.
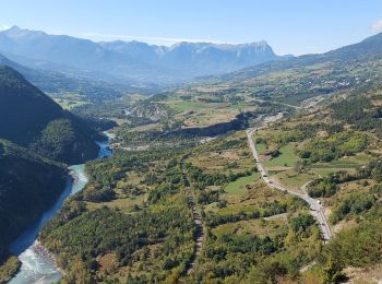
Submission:
{"label": "hazy blue distant mountain ridge stretching along the horizon", "polygon": [[22,64],[61,71],[77,69],[121,81],[176,82],[220,74],[279,59],[266,42],[228,45],[179,43],[170,47],[140,42],[102,42],[13,26],[0,32],[0,52]]}

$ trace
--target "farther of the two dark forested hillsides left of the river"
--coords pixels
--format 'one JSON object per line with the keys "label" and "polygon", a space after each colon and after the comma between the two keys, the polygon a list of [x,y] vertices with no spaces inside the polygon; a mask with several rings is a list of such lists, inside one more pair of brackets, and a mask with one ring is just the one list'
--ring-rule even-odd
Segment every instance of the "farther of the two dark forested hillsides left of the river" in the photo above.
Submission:
{"label": "farther of the two dark forested hillsides left of the river", "polygon": [[9,67],[0,67],[0,138],[53,159],[81,163],[98,151],[85,122]]}

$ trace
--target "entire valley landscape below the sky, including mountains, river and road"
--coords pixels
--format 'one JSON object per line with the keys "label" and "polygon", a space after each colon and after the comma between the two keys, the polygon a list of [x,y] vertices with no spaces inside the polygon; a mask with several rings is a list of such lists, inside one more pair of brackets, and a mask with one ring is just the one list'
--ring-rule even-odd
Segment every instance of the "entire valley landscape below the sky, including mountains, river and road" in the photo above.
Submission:
{"label": "entire valley landscape below the sky, including mountains, river and road", "polygon": [[381,281],[382,33],[0,52],[0,283]]}

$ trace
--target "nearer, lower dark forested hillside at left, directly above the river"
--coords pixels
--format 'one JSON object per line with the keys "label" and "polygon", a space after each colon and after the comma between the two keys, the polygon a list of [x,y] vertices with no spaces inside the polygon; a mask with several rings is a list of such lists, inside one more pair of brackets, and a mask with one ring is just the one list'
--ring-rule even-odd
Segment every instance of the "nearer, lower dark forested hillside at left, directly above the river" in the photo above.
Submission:
{"label": "nearer, lower dark forested hillside at left, directly above the river", "polygon": [[0,265],[8,245],[62,192],[64,174],[62,165],[0,140]]}

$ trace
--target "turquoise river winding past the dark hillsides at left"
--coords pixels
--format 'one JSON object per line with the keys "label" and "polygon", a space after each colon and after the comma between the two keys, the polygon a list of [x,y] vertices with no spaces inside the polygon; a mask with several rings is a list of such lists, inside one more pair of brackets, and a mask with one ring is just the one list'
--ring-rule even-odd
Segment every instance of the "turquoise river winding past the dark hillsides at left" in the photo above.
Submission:
{"label": "turquoise river winding past the dark hillsides at left", "polygon": [[[109,132],[104,132],[108,140],[96,142],[99,145],[97,158],[110,157],[112,155],[109,149],[109,141],[114,135]],[[19,257],[21,268],[19,273],[9,282],[10,284],[29,284],[29,283],[57,283],[62,274],[56,265],[53,259],[44,247],[38,244],[37,236],[43,226],[52,218],[62,208],[64,200],[82,190],[87,178],[84,171],[85,165],[72,165],[69,167],[67,186],[55,205],[45,212],[40,220],[31,228],[20,235],[10,246],[12,253]]]}

